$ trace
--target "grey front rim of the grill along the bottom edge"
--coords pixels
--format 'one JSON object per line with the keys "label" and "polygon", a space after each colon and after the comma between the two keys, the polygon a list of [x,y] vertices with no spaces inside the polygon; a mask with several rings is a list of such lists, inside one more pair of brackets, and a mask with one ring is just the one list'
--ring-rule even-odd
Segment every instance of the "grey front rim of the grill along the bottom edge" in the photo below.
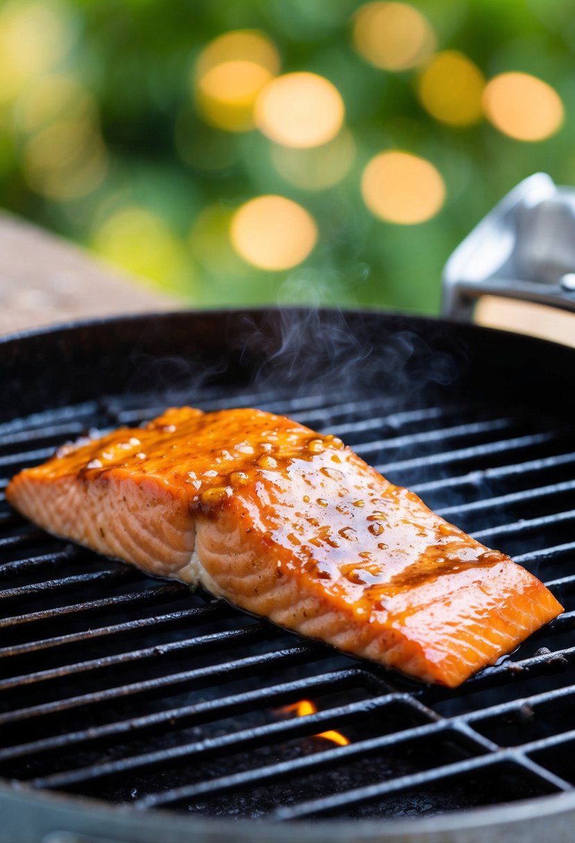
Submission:
{"label": "grey front rim of the grill along the bottom edge", "polygon": [[[282,823],[267,819],[217,819],[190,817],[163,808],[137,810],[129,805],[114,805],[93,797],[77,797],[62,792],[33,791],[24,783],[11,785],[0,779],[0,814],[10,819],[8,808],[17,808],[26,816],[34,836],[14,840],[43,840],[45,835],[65,831],[88,834],[85,843],[116,843],[110,834],[120,833],[120,840],[157,843],[253,843],[255,835],[262,843],[293,843],[294,832],[300,843],[486,843],[487,833],[497,835],[513,831],[512,840],[547,839],[558,843],[572,840],[575,792],[553,793],[512,804],[465,808],[433,816],[395,819],[319,819]],[[102,828],[99,824],[104,821]],[[8,826],[9,829],[9,826]],[[14,830],[19,830],[14,826]],[[124,835],[127,835],[124,837]],[[135,836],[137,835],[137,836]],[[168,836],[169,835],[169,836]],[[192,838],[193,835],[193,838]],[[59,840],[60,838],[58,838]],[[510,840],[508,837],[505,840]],[[48,841],[46,840],[46,843]],[[63,843],[63,841],[62,841]],[[71,840],[70,843],[76,843]]]}

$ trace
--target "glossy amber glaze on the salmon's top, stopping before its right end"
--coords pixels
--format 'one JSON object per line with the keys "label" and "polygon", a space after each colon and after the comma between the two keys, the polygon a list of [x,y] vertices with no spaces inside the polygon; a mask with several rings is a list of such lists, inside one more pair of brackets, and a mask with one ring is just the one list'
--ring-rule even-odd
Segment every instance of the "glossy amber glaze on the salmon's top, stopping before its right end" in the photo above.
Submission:
{"label": "glossy amber glaze on the salmon's top, stopping before its right end", "polygon": [[257,410],[172,408],[147,427],[68,446],[52,462],[58,474],[65,464],[94,481],[137,467],[204,518],[239,504],[245,536],[274,553],[279,572],[307,588],[320,581],[360,614],[406,615],[422,586],[428,593],[435,583],[438,598],[450,577],[476,582],[507,558],[430,513],[340,439]]}

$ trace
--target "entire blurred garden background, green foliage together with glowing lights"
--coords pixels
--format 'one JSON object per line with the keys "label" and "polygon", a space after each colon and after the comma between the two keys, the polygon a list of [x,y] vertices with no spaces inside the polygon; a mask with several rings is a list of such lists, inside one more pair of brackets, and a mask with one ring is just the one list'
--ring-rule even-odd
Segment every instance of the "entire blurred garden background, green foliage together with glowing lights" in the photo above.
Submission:
{"label": "entire blurred garden background, green foliage together with glowing lights", "polygon": [[[0,204],[192,305],[437,313],[449,252],[508,187],[573,182],[571,12],[0,0]],[[233,243],[239,206],[276,195],[305,222],[262,213]]]}

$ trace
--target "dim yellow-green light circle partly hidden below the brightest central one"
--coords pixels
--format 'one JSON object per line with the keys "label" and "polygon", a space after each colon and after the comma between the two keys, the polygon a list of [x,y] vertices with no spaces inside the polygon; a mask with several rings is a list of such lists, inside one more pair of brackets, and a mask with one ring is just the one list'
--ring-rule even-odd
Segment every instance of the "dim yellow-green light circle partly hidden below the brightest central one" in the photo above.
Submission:
{"label": "dim yellow-green light circle partly hidden below the brightest central one", "polygon": [[304,191],[324,191],[347,175],[355,158],[352,133],[344,127],[330,142],[311,149],[274,144],[271,160],[282,177]]}

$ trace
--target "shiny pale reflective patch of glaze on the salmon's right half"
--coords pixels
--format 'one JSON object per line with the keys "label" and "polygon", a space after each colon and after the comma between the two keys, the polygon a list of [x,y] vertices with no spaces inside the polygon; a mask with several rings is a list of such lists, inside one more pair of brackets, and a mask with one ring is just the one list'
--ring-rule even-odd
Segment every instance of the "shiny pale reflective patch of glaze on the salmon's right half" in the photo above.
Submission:
{"label": "shiny pale reflective patch of glaze on the salmon's right half", "polygon": [[[327,444],[311,458],[290,457],[282,470],[262,479],[255,496],[250,490],[242,495],[250,518],[270,532],[280,564],[306,580],[306,589],[321,580],[322,590],[360,615],[381,615],[387,622],[394,613],[404,625],[430,594],[442,599],[454,587],[476,581],[478,572],[508,559],[445,524],[419,498],[385,481],[348,448],[339,455],[339,475],[321,470],[330,459]],[[362,477],[363,505],[357,505],[355,491],[341,498],[348,474]],[[310,486],[321,497],[309,495]],[[298,502],[297,511],[286,503],[292,499]]]}

